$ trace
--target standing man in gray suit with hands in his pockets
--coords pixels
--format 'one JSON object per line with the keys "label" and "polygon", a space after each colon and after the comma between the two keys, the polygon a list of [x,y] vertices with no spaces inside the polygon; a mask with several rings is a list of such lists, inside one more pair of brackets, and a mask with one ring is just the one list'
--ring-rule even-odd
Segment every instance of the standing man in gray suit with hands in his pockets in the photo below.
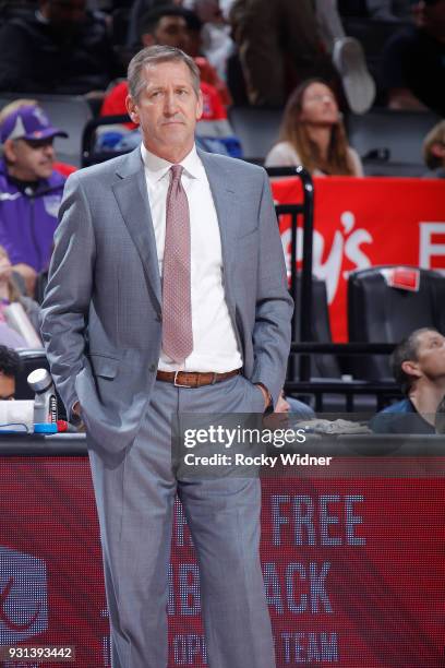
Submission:
{"label": "standing man in gray suit with hands in his pockets", "polygon": [[115,668],[167,665],[176,493],[200,563],[211,666],[275,666],[258,479],[181,480],[171,465],[171,416],[263,413],[290,343],[267,176],[196,152],[199,84],[179,49],[133,58],[128,107],[143,143],[69,178],[43,305],[53,379],[87,432]]}

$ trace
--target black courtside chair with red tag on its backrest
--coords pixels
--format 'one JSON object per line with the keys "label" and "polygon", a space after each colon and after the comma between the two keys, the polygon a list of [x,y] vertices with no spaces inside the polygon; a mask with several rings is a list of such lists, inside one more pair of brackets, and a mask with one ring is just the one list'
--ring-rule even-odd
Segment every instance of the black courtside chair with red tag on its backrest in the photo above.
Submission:
{"label": "black courtside chair with red tag on its backrest", "polygon": [[[413,330],[445,334],[445,276],[413,266],[382,265],[351,272],[348,278],[350,342],[399,343]],[[388,359],[353,358],[357,379],[390,378]]]}

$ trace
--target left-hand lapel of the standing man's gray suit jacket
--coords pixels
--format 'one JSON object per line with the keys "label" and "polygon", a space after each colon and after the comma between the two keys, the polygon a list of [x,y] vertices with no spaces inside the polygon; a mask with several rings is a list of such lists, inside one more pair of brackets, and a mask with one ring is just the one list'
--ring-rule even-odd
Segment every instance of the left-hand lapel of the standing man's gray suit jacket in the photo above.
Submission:
{"label": "left-hand lapel of the standing man's gray suit jacket", "polygon": [[149,210],[141,150],[137,147],[117,172],[119,180],[113,184],[116,200],[137,249],[147,279],[148,289],[160,310],[161,289],[156,251],[155,231]]}

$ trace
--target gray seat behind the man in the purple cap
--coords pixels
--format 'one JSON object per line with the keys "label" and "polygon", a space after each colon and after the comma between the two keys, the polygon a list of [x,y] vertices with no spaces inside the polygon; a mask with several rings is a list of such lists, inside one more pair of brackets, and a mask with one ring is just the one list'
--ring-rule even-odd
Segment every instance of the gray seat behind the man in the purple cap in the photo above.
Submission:
{"label": "gray seat behind the man in the purple cap", "polygon": [[0,108],[14,99],[36,99],[53,126],[69,133],[68,139],[56,138],[57,159],[75,167],[81,166],[81,138],[92,109],[82,95],[43,95],[34,93],[0,93]]}

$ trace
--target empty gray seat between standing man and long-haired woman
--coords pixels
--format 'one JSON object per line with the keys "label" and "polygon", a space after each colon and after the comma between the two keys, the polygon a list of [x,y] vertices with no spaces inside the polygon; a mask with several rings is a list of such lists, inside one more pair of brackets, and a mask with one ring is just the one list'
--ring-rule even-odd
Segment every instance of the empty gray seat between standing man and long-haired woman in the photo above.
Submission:
{"label": "empty gray seat between standing man and long-haired woman", "polygon": [[281,109],[232,107],[229,110],[229,120],[241,142],[244,159],[264,162],[278,140],[281,117]]}

